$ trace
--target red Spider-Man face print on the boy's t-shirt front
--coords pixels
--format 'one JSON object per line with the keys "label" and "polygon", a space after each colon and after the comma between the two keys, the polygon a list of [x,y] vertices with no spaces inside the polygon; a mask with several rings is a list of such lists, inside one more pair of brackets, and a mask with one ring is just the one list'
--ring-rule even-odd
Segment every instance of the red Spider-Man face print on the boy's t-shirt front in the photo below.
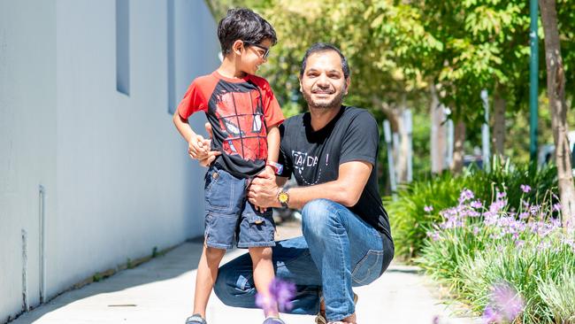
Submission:
{"label": "red Spider-Man face print on the boy's t-shirt front", "polygon": [[229,156],[239,156],[252,162],[267,158],[267,131],[259,90],[246,87],[216,88],[210,113],[216,117],[224,135],[222,150]]}

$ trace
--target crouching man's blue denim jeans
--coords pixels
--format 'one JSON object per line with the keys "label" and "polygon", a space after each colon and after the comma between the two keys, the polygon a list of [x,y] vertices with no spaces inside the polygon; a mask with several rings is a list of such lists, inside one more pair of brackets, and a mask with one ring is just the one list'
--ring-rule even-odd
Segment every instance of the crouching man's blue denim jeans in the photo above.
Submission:
{"label": "crouching man's blue denim jeans", "polygon": [[[327,320],[342,320],[355,312],[351,287],[379,278],[394,256],[394,245],[348,208],[327,199],[303,207],[302,227],[303,237],[272,247],[276,276],[296,285],[290,312],[318,313],[323,290]],[[220,267],[214,291],[226,305],[256,307],[248,254]]]}

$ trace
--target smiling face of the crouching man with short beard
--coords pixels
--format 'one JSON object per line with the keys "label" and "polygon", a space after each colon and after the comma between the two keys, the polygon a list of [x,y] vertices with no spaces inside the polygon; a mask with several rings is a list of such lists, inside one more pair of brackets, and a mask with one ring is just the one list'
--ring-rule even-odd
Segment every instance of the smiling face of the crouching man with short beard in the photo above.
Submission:
{"label": "smiling face of the crouching man with short beard", "polygon": [[307,58],[300,89],[310,108],[339,108],[348,87],[349,78],[343,75],[337,52],[325,50]]}

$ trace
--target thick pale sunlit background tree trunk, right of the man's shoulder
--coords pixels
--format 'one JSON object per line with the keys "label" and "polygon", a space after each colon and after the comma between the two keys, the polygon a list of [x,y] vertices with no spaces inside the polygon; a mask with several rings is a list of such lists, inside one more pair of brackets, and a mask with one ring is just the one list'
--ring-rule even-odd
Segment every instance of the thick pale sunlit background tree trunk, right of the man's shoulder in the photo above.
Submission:
{"label": "thick pale sunlit background tree trunk, right of the man's shoulder", "polygon": [[430,87],[430,94],[430,116],[432,121],[430,150],[432,174],[441,174],[445,168],[445,152],[447,145],[445,112],[443,111],[443,106],[440,104],[439,97],[437,96],[437,89],[435,89],[434,84]]}

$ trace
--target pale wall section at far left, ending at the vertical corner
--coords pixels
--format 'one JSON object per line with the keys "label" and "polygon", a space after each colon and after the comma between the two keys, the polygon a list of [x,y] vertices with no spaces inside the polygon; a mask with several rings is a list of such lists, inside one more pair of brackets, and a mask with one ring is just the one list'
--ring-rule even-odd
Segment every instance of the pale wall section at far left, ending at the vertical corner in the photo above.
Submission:
{"label": "pale wall section at far left, ending at the vertical corner", "polygon": [[56,186],[55,62],[54,2],[0,1],[0,322],[22,309],[25,283],[29,305],[39,301],[38,188]]}

